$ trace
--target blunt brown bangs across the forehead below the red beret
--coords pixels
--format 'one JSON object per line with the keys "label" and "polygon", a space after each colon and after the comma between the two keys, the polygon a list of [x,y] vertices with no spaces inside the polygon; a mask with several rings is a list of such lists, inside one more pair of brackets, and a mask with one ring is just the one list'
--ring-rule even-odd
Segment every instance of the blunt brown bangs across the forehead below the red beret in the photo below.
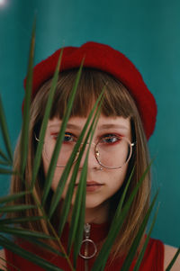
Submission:
{"label": "blunt brown bangs across the forehead below the red beret", "polygon": [[[77,69],[59,74],[50,119],[54,117],[63,118],[67,109],[69,95],[76,81],[76,75]],[[41,99],[39,99],[41,101],[39,112],[41,117],[44,115],[50,84],[51,80],[46,82],[37,94],[41,95]],[[103,115],[131,117],[134,111],[134,101],[125,86],[111,75],[92,68],[83,68],[82,70],[70,116],[87,117],[104,87]]]}

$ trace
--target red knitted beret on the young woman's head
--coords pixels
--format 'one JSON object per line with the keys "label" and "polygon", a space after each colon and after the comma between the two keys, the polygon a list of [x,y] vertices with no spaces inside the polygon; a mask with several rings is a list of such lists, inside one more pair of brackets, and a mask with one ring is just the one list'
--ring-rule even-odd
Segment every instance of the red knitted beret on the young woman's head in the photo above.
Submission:
{"label": "red knitted beret on the young woman's head", "polygon": [[[32,98],[40,86],[53,76],[60,50],[57,50],[48,59],[42,60],[33,69]],[[149,139],[155,129],[157,104],[139,70],[118,50],[113,50],[112,47],[101,43],[86,42],[79,48],[64,48],[60,71],[78,68],[84,58],[84,67],[105,71],[126,86],[137,104],[147,139]]]}

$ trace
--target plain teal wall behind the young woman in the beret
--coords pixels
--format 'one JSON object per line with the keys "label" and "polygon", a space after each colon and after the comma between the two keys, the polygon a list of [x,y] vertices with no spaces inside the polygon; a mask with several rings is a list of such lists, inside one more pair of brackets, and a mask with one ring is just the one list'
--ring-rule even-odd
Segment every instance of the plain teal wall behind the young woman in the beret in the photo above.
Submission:
{"label": "plain teal wall behind the young woman in the beret", "polygon": [[[180,244],[180,2],[178,0],[6,0],[0,5],[0,91],[13,146],[21,127],[23,77],[34,14],[35,62],[60,46],[99,41],[125,53],[139,68],[158,106],[149,140],[153,191],[160,203],[153,237]],[[5,194],[8,177],[1,177]]]}

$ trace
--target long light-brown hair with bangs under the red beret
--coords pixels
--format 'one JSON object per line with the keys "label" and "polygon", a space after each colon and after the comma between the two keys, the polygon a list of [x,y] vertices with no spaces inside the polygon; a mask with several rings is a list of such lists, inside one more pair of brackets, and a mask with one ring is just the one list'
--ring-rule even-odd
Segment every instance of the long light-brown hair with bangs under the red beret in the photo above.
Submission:
{"label": "long light-brown hair with bangs under the red beret", "polygon": [[[61,73],[58,77],[58,85],[55,93],[54,101],[52,104],[52,109],[50,113],[50,119],[53,117],[58,117],[62,119],[64,112],[67,107],[68,96],[71,92],[72,86],[76,78],[77,70],[68,70]],[[51,84],[51,79],[47,81],[43,86],[40,87],[39,92],[33,99],[31,104],[31,122],[29,131],[29,156],[27,161],[27,166],[25,170],[25,180],[26,184],[31,183],[31,169],[33,167],[33,158],[36,150],[36,140],[34,138],[34,133],[37,135],[40,131],[40,124],[45,111],[45,105],[49,95],[49,87]],[[123,118],[130,118],[132,141],[136,142],[135,149],[133,150],[133,155],[130,158],[129,168],[127,172],[126,179],[121,186],[120,191],[112,196],[111,199],[111,212],[114,213],[115,209],[121,198],[121,193],[126,185],[126,181],[130,176],[130,171],[135,165],[135,171],[130,181],[130,187],[128,189],[128,194],[126,196],[125,202],[127,201],[130,193],[132,192],[135,185],[137,185],[140,176],[142,176],[145,169],[148,167],[148,148],[147,140],[139,116],[139,111],[137,109],[136,103],[131,97],[129,91],[119,82],[117,79],[111,75],[104,73],[103,71],[96,70],[93,68],[84,68],[81,74],[80,82],[76,91],[76,98],[73,104],[73,109],[71,116],[87,116],[87,113],[92,108],[94,100],[100,95],[103,86],[105,85],[105,92],[103,98],[102,113],[105,116],[122,116]],[[17,144],[15,155],[14,155],[14,167],[19,169],[20,167],[20,143]],[[44,172],[42,164],[40,166],[40,171],[37,177],[36,185],[34,187],[34,193],[36,197],[41,199],[43,190]],[[26,185],[22,182],[19,176],[13,176],[11,192],[18,193],[26,189]],[[49,201],[51,194],[49,193]],[[124,221],[123,226],[119,232],[119,236],[116,239],[112,247],[112,255],[114,257],[126,253],[133,239],[135,238],[139,225],[142,222],[145,213],[148,210],[149,204],[149,194],[150,194],[150,174],[145,177],[142,185],[139,187],[139,192],[131,204],[130,211],[128,213],[127,219]],[[23,198],[16,201],[16,203],[34,203],[33,198],[30,194],[25,195]],[[49,205],[49,204],[48,204]],[[48,211],[48,205],[45,209]],[[112,212],[113,211],[113,212]],[[35,216],[40,215],[39,209],[33,209],[24,211],[23,213],[14,213],[11,216]],[[112,221],[112,216],[109,216],[110,222]],[[52,220],[53,221],[53,220]],[[31,230],[40,230],[46,233],[51,233],[49,225],[46,221],[30,221],[28,223],[23,223],[21,225],[23,228],[28,228]],[[55,225],[56,228],[56,225]],[[56,246],[56,242],[51,241],[52,245]]]}

